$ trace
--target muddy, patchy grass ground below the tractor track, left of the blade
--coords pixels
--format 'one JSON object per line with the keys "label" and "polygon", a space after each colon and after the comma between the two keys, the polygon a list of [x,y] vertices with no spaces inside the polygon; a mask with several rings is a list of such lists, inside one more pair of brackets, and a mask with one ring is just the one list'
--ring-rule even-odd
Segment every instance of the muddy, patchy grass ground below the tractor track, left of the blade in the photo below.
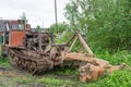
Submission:
{"label": "muddy, patchy grass ground below the tractor track, left of the blade", "polygon": [[[63,70],[52,70],[43,73],[43,75],[33,76],[12,66],[0,66],[0,87],[74,87],[73,85],[75,84],[81,85],[78,83],[76,76],[63,75],[64,72],[62,71]],[[50,78],[56,80],[51,80]],[[69,82],[72,79],[72,86],[70,86]]]}

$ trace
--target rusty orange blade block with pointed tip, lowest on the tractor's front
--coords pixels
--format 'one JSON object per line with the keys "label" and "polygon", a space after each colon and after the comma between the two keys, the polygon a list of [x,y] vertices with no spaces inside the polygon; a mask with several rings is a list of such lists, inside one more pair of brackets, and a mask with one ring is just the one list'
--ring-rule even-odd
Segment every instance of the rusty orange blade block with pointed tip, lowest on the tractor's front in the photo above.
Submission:
{"label": "rusty orange blade block with pointed tip, lowest on the tractor's front", "polygon": [[102,67],[99,65],[93,65],[91,63],[87,63],[83,66],[80,66],[79,73],[80,73],[80,80],[82,83],[86,83],[88,80],[96,80],[98,77],[103,76],[104,73],[111,73],[116,70],[122,70],[126,66],[126,64],[121,65],[109,65],[108,67]]}

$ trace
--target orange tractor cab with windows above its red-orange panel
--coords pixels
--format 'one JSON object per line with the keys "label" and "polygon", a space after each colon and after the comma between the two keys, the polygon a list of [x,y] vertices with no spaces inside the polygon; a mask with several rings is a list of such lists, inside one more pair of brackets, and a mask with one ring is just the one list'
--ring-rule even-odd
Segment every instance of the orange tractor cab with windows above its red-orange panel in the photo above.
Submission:
{"label": "orange tractor cab with windows above its red-orange panel", "polygon": [[9,47],[23,47],[25,38],[25,22],[23,20],[10,21]]}

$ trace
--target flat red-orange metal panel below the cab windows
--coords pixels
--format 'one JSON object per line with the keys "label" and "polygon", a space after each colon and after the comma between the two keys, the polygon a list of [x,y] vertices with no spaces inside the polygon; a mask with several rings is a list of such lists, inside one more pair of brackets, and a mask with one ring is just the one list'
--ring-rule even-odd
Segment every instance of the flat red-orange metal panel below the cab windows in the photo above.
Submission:
{"label": "flat red-orange metal panel below the cab windows", "polygon": [[10,34],[10,47],[21,47],[24,44],[25,32],[12,30]]}

